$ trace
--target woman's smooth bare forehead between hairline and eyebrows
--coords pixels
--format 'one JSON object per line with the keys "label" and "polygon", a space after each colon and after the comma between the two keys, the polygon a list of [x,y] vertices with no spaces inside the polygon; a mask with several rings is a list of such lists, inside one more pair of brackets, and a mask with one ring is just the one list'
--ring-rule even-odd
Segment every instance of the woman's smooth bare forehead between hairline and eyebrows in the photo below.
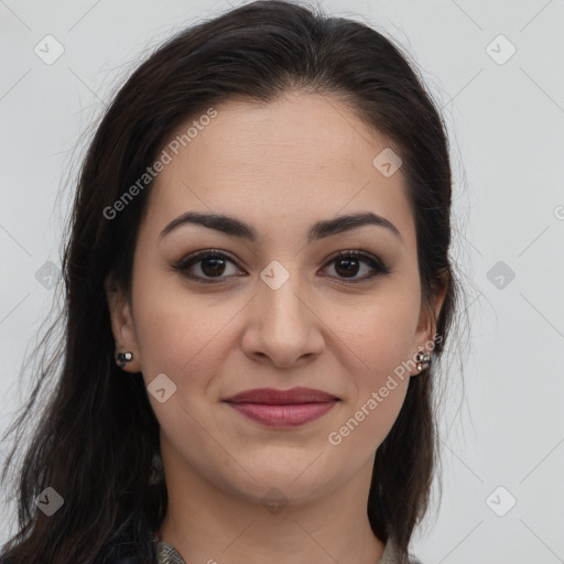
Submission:
{"label": "woman's smooth bare forehead between hairline and eyebrows", "polygon": [[[214,118],[193,116],[169,138],[171,162],[148,203],[155,228],[189,209],[236,215],[259,231],[276,219],[310,226],[315,218],[371,210],[409,236],[401,169],[387,177],[373,164],[391,143],[337,97],[290,94],[214,109]],[[176,153],[169,149],[174,140]]]}

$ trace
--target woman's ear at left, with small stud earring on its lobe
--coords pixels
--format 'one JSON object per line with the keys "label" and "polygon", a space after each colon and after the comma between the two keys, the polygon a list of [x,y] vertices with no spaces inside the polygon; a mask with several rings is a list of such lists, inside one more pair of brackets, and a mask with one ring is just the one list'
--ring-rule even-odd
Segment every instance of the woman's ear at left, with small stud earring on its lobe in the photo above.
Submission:
{"label": "woman's ear at left, with small stud earring on its lobe", "polygon": [[141,359],[139,357],[139,347],[129,299],[122,288],[113,281],[111,273],[106,276],[104,288],[110,313],[111,332],[116,341],[115,355],[118,352],[132,352],[133,355],[131,361],[127,362],[123,368],[116,360],[116,356],[113,357],[115,361],[126,372],[140,372]]}

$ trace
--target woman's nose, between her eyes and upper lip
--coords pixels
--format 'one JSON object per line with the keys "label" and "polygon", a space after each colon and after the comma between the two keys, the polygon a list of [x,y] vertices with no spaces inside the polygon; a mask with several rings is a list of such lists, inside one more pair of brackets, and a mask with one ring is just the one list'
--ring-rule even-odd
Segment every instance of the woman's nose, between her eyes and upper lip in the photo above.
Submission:
{"label": "woman's nose, between her eyes and upper lip", "polygon": [[322,354],[324,323],[313,300],[294,283],[296,279],[292,274],[276,290],[259,282],[241,340],[241,348],[252,360],[289,368]]}

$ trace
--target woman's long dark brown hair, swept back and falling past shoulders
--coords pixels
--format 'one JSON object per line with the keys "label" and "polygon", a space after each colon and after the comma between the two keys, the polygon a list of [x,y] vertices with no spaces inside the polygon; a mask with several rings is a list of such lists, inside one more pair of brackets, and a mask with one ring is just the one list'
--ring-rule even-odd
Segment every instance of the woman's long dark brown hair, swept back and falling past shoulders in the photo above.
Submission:
{"label": "woman's long dark brown hair, swept back and falling past shoulders", "polygon": [[[161,45],[107,108],[82,164],[63,257],[64,335],[37,370],[24,412],[57,376],[18,478],[19,532],[6,545],[17,563],[102,562],[122,540],[139,562],[154,562],[142,535],[167,507],[159,470],[159,422],[141,373],[123,377],[105,294],[109,273],[128,292],[140,220],[151,183],[113,206],[189,118],[234,98],[270,102],[289,91],[339,97],[390,139],[403,161],[415,219],[423,303],[445,299],[434,361],[411,378],[404,404],[376,453],[368,516],[375,534],[393,536],[404,558],[427,511],[438,460],[433,376],[455,317],[459,286],[448,257],[452,178],[445,126],[414,65],[370,26],[292,2],[257,1],[191,26]],[[53,337],[54,326],[47,337]],[[45,358],[45,357],[44,357]],[[58,361],[61,360],[61,361]],[[10,433],[13,432],[13,427]],[[2,480],[18,441],[8,457]],[[64,510],[46,517],[34,500],[52,487]]]}

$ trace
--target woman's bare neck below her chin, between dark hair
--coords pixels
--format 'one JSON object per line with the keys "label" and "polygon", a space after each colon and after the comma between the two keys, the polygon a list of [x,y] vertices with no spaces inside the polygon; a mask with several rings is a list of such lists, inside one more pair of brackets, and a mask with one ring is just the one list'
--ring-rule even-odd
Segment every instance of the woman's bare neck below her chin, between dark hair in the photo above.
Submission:
{"label": "woman's bare neck below her chin, between dark hair", "polygon": [[158,535],[186,564],[376,564],[384,545],[366,511],[371,471],[372,459],[323,497],[267,507],[228,494],[184,466],[165,473],[169,506]]}

